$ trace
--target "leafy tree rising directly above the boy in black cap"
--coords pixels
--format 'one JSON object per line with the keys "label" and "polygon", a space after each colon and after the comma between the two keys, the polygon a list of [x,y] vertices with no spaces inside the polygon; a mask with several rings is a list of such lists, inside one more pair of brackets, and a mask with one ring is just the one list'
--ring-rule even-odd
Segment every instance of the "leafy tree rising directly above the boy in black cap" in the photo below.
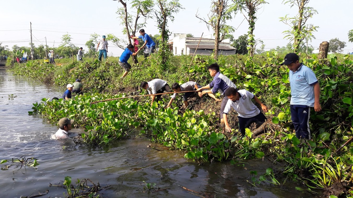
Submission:
{"label": "leafy tree rising directly above the boy in black cap", "polygon": [[294,53],[298,53],[301,47],[301,42],[306,39],[306,41],[313,38],[313,32],[316,32],[319,26],[314,26],[312,24],[306,24],[307,20],[312,18],[314,14],[318,12],[307,6],[310,0],[288,0],[284,4],[289,4],[291,7],[298,7],[298,15],[295,17],[288,17],[288,14],[285,17],[280,17],[280,21],[284,24],[287,24],[291,27],[290,30],[284,31],[286,34],[284,38],[288,38],[291,41],[294,41],[293,48]]}

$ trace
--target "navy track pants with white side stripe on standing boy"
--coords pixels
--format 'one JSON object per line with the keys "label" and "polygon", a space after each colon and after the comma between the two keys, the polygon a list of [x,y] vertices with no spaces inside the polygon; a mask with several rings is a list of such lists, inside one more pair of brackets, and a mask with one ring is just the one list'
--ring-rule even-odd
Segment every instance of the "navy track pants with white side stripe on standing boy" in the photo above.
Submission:
{"label": "navy track pants with white side stripe on standing boy", "polygon": [[295,136],[298,139],[311,139],[309,117],[310,107],[306,105],[291,105],[292,123],[295,129]]}

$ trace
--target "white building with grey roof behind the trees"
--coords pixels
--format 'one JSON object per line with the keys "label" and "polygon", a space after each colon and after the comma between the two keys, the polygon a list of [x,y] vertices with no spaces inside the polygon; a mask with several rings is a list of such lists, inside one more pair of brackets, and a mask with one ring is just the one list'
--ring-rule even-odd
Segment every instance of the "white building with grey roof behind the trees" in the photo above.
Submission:
{"label": "white building with grey roof behind the trees", "polygon": [[[173,33],[173,38],[169,39],[169,49],[174,55],[194,54],[200,37],[186,37],[186,34]],[[204,36],[196,50],[196,54],[211,55],[215,49],[215,39],[213,35]],[[219,44],[219,55],[235,54],[235,48],[230,45],[230,39],[224,39]]]}

